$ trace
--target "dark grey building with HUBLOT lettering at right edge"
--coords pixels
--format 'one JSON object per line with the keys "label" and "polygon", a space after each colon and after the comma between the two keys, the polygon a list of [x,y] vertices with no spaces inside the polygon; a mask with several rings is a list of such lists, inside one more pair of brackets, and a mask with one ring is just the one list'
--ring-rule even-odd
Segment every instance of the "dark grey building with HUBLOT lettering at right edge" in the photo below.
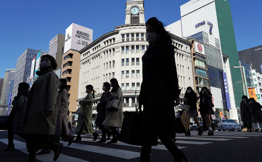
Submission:
{"label": "dark grey building with HUBLOT lettering at right edge", "polygon": [[252,66],[253,69],[262,74],[262,45],[238,51],[239,61]]}

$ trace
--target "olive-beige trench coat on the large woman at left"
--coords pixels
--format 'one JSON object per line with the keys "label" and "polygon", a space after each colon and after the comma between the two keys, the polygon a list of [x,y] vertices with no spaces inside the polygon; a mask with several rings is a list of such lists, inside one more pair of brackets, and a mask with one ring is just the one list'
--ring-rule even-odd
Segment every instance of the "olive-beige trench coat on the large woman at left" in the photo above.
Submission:
{"label": "olive-beige trench coat on the large woman at left", "polygon": [[[55,134],[58,111],[56,106],[58,76],[53,71],[53,69],[43,71],[30,89],[25,112],[24,133]],[[53,111],[53,113],[46,117],[46,111]]]}

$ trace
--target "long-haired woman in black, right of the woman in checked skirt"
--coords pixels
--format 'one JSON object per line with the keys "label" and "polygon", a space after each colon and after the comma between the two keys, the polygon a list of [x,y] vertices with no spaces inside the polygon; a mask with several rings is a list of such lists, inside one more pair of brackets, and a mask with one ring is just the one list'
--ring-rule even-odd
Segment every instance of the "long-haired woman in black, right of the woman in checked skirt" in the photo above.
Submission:
{"label": "long-haired woman in black, right of the woman in checked skirt", "polygon": [[212,94],[209,92],[208,88],[203,87],[201,89],[201,92],[200,92],[199,107],[200,107],[200,114],[204,115],[204,117],[206,119],[206,123],[207,123],[208,129],[209,129],[208,130],[209,136],[214,135],[214,132],[212,130],[212,125],[211,125],[212,121],[210,119],[210,116],[212,114],[214,114],[214,111],[212,109],[212,107],[214,107],[214,105],[212,104],[211,98],[212,98]]}

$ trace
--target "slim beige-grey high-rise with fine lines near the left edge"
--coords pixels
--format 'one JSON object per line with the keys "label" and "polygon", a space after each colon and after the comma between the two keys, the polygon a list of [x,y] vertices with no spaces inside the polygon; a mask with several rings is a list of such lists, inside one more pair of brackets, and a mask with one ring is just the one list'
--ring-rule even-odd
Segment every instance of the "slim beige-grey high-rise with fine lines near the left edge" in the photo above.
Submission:
{"label": "slim beige-grey high-rise with fine lines near the left edge", "polygon": [[2,94],[1,94],[1,99],[0,99],[1,105],[4,105],[4,106],[8,105],[9,89],[10,89],[10,84],[12,80],[14,80],[14,74],[15,74],[15,69],[5,70],[5,78],[3,82]]}

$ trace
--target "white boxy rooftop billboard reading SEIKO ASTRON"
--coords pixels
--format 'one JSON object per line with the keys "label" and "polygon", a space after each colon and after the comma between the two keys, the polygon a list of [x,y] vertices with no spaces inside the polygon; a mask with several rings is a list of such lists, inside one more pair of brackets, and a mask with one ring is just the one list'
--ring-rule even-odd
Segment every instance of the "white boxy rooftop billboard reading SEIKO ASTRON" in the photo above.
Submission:
{"label": "white boxy rooftop billboard reading SEIKO ASTRON", "polygon": [[93,42],[93,30],[72,23],[66,29],[65,52],[69,49],[80,51]]}

